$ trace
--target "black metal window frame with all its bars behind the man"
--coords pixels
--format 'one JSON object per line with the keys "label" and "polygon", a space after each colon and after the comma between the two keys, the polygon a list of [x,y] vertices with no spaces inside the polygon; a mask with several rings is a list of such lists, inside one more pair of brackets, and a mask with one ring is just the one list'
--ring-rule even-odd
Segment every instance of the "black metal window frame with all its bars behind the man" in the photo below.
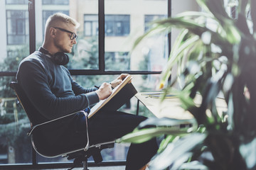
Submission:
{"label": "black metal window frame with all its bars behind the man", "polygon": [[[167,0],[168,16],[171,16],[171,0]],[[99,69],[69,69],[71,75],[114,75],[114,74],[161,74],[161,72],[151,71],[105,71],[105,1],[98,0],[98,38],[99,38]],[[29,53],[36,51],[36,18],[35,18],[35,0],[28,0],[28,24],[29,24]],[[169,53],[171,52],[171,33],[168,35]],[[16,72],[1,72],[0,77],[15,77]],[[52,169],[69,168],[73,163],[46,163],[38,164],[36,151],[32,149],[32,164],[4,164],[0,165],[1,169]],[[125,162],[102,162],[95,164],[88,163],[89,166],[118,166],[125,165]]]}

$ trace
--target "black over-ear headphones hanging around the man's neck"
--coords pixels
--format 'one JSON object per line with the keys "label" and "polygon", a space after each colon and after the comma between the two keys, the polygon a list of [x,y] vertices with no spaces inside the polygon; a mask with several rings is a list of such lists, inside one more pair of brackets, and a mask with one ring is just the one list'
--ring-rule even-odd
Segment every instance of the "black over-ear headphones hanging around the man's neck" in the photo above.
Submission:
{"label": "black over-ear headphones hanging around the man's neck", "polygon": [[69,57],[64,52],[56,52],[54,55],[52,55],[50,54],[50,52],[48,52],[48,50],[44,49],[43,47],[40,47],[39,51],[45,55],[50,55],[50,58],[53,60],[55,64],[65,65],[69,62]]}

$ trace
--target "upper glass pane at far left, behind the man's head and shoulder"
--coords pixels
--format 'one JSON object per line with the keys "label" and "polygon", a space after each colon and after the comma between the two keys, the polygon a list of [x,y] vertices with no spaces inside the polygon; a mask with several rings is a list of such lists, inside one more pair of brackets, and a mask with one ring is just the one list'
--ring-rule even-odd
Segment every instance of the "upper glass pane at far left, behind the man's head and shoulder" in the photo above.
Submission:
{"label": "upper glass pane at far left, behind the man's head and shoulder", "polygon": [[[9,5],[9,6],[16,6]],[[27,8],[27,4],[18,5]],[[0,12],[3,25],[0,27],[0,72],[16,72],[18,63],[29,54],[28,50],[28,11],[4,10]]]}

